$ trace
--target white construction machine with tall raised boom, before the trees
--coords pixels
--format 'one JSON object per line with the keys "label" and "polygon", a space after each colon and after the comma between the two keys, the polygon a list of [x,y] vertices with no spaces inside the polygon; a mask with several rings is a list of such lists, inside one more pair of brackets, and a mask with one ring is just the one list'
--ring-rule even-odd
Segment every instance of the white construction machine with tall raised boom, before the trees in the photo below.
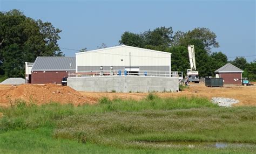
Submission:
{"label": "white construction machine with tall raised boom, before the trees", "polygon": [[196,68],[196,58],[194,55],[194,45],[188,45],[188,56],[190,58],[190,69],[187,69],[187,78],[189,82],[199,83],[199,75]]}

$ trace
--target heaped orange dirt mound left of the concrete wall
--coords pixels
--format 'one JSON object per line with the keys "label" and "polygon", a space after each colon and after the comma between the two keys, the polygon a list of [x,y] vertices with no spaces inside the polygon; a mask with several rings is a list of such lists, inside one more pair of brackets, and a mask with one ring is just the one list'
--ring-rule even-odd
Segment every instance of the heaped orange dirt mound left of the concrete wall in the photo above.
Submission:
{"label": "heaped orange dirt mound left of the concrete wall", "polygon": [[68,86],[59,86],[53,84],[24,84],[20,86],[13,86],[7,90],[1,90],[0,103],[11,104],[17,99],[36,104],[59,102],[78,105],[96,102],[96,100],[92,97],[85,97]]}

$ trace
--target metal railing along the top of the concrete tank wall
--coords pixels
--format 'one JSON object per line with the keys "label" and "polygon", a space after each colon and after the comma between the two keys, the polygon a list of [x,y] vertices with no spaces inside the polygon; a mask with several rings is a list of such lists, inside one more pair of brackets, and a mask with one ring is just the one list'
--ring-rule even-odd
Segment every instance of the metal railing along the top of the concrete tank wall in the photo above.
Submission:
{"label": "metal railing along the top of the concrete tank wall", "polygon": [[[161,76],[161,77],[178,77],[183,79],[183,72],[172,71],[144,71],[128,72],[126,70],[102,70],[102,71],[84,71],[84,72],[68,72],[68,77],[91,77],[91,76],[115,76],[115,75],[136,75],[136,76]],[[171,76],[170,76],[171,75]]]}

